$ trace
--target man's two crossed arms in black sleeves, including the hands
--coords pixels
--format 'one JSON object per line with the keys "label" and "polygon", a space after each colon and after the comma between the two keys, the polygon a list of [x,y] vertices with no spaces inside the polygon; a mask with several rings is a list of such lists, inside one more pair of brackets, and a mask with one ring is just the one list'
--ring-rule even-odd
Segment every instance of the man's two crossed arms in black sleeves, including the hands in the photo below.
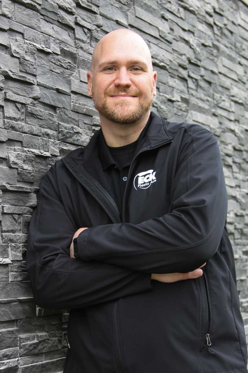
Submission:
{"label": "man's two crossed arms in black sleeves, including the hands", "polygon": [[[151,278],[172,282],[202,274],[199,267],[215,254],[222,237],[227,197],[216,140],[201,131],[195,137],[194,154],[181,152],[171,211],[137,225],[99,225],[75,232],[60,198],[56,165],[51,167],[29,225],[26,266],[36,304],[88,307],[152,291]],[[192,171],[190,177],[187,170]],[[75,234],[82,260],[70,257]]]}

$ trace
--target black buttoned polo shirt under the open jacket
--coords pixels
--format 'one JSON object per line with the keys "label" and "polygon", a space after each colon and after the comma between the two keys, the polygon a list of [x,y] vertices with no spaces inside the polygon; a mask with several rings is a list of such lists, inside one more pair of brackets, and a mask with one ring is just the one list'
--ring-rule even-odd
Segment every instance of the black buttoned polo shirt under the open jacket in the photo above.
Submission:
{"label": "black buttoned polo shirt under the open jacket", "polygon": [[144,126],[138,140],[131,144],[110,147],[106,144],[102,130],[100,129],[98,138],[98,154],[102,164],[104,176],[112,192],[112,197],[119,207],[120,217],[122,217],[123,198],[127,185],[128,171],[130,168],[133,155],[137,148],[143,142],[147,128],[150,124],[150,117]]}

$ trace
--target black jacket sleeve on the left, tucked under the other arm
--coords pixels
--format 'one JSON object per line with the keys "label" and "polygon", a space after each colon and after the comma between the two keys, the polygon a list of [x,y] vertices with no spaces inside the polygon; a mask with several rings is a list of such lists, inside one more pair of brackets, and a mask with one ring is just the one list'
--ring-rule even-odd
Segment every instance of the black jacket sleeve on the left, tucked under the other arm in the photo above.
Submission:
{"label": "black jacket sleeve on the left, tucked under the other arm", "polygon": [[36,304],[80,308],[152,290],[150,275],[113,264],[70,258],[76,231],[50,169],[41,181],[29,225],[26,267]]}

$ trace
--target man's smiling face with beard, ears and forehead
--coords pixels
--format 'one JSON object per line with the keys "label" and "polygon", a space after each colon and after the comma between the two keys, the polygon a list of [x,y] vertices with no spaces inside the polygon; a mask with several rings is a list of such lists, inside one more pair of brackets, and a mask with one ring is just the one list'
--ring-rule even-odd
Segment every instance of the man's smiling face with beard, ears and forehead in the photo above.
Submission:
{"label": "man's smiling face with beard, ears and forehead", "polygon": [[146,115],[156,89],[150,54],[136,36],[109,36],[99,46],[88,89],[100,116],[135,123]]}

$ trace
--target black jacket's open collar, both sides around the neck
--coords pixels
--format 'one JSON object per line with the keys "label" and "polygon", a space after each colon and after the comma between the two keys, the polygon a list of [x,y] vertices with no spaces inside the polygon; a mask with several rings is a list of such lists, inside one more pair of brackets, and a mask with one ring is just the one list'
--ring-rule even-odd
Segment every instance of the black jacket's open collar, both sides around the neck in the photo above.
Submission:
{"label": "black jacket's open collar, both sides around the neck", "polygon": [[[137,149],[140,151],[142,148],[156,148],[165,142],[171,140],[171,137],[169,136],[169,132],[166,128],[166,121],[160,117],[159,115],[156,115],[154,112],[150,113],[150,125],[146,131],[146,136],[144,138],[144,141],[142,144],[140,144],[140,148]],[[81,167],[88,158],[92,155],[92,153],[95,153],[97,144],[98,144],[98,137],[99,137],[98,130],[90,139],[89,143],[84,148],[77,148],[73,151],[71,151],[69,154],[67,154],[66,157],[69,157],[76,162],[78,167]]]}

